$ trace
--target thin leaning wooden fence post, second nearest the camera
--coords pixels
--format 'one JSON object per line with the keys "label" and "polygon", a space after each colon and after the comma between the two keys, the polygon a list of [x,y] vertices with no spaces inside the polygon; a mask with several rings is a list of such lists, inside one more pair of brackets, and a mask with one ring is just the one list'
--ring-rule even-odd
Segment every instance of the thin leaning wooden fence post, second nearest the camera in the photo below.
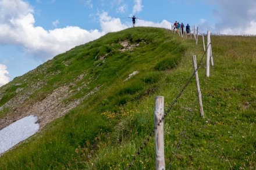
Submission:
{"label": "thin leaning wooden fence post, second nearest the camera", "polygon": [[195,83],[197,84],[197,94],[198,94],[198,102],[200,107],[200,115],[202,118],[204,118],[204,108],[202,107],[202,95],[201,95],[201,89],[199,84],[199,77],[197,73],[197,56],[193,55],[193,65],[194,65],[194,71],[195,71]]}

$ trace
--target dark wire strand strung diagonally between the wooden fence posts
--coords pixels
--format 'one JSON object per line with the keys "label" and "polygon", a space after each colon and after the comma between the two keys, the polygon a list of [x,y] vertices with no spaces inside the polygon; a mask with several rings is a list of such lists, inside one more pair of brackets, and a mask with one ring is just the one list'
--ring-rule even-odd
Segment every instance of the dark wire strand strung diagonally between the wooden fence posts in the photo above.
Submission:
{"label": "dark wire strand strung diagonally between the wooden fence posts", "polygon": [[[207,46],[207,49],[211,48],[211,44],[209,44]],[[198,63],[198,66],[201,65],[202,60],[204,59],[205,55],[206,55],[207,51],[205,50],[204,55],[202,55],[200,62]],[[197,70],[201,68],[201,67],[197,67],[194,72],[191,74],[191,76],[187,79],[186,83],[183,85],[182,89],[180,90],[180,92],[176,95],[176,97],[173,99],[172,103],[169,104],[168,109],[166,110],[166,112],[164,113],[162,120],[160,120],[157,124],[157,126],[154,127],[154,129],[150,132],[150,134],[147,136],[147,138],[145,138],[143,144],[137,149],[136,154],[133,157],[133,160],[130,162],[129,165],[127,165],[126,169],[129,169],[132,165],[133,162],[137,160],[137,157],[141,154],[141,152],[145,149],[145,147],[147,146],[150,138],[154,135],[155,133],[155,129],[158,128],[158,126],[163,122],[164,118],[170,113],[170,110],[172,110],[173,106],[175,106],[177,99],[179,99],[180,96],[182,96],[182,93],[184,92],[184,90],[187,88],[187,86],[190,84],[191,79],[193,79],[195,73],[197,72]],[[184,131],[182,131],[182,135],[183,135]],[[181,142],[181,139],[179,140],[179,143],[176,147],[176,151],[179,147],[179,144]],[[172,159],[173,160],[173,159]]]}

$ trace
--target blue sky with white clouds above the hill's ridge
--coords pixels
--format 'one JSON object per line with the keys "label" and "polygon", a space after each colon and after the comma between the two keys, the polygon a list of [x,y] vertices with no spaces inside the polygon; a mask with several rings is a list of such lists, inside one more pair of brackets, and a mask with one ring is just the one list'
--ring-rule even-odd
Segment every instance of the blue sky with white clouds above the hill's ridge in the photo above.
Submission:
{"label": "blue sky with white clouds above the hill's ridge", "polygon": [[255,0],[0,0],[0,86],[74,46],[175,21],[200,32],[256,35]]}

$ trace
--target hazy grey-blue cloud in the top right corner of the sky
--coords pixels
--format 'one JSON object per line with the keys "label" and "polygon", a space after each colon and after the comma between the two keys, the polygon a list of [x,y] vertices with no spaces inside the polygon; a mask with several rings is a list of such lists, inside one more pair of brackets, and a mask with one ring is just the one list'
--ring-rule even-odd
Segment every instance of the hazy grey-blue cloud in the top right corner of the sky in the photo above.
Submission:
{"label": "hazy grey-blue cloud in the top right corner of the sky", "polygon": [[213,15],[218,19],[215,31],[222,34],[256,34],[256,1],[244,0],[230,3],[230,1],[211,0],[218,6]]}

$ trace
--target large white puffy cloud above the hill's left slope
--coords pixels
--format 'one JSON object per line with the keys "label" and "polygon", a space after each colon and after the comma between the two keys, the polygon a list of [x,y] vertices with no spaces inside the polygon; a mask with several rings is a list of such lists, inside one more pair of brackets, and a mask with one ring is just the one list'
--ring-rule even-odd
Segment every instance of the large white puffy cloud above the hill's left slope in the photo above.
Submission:
{"label": "large white puffy cloud above the hill's left slope", "polygon": [[45,30],[35,27],[34,23],[33,8],[29,3],[0,0],[0,44],[23,46],[24,52],[42,61],[103,35],[98,30],[72,26]]}

